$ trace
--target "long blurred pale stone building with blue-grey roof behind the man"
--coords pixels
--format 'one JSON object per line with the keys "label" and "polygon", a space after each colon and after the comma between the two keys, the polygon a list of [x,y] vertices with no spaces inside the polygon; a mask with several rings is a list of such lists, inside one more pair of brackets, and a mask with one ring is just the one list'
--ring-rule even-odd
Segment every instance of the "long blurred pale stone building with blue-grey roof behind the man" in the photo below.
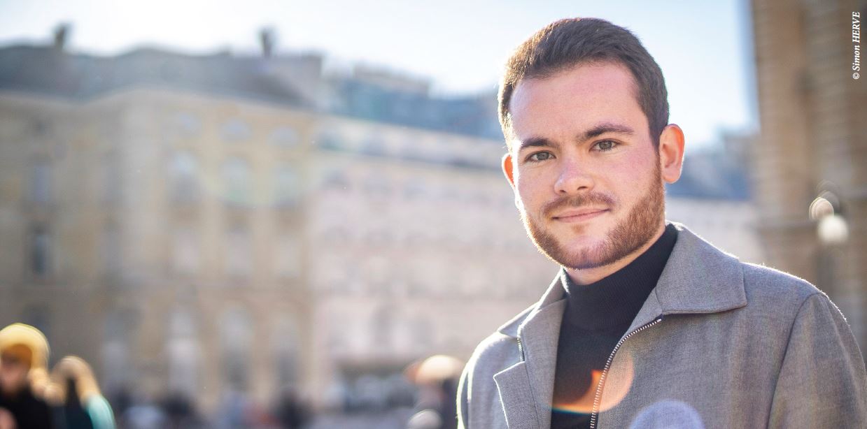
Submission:
{"label": "long blurred pale stone building with blue-grey roof behind the man", "polygon": [[[0,48],[0,323],[35,324],[109,395],[388,407],[408,363],[468,357],[557,272],[500,170],[493,94],[269,43],[62,42]],[[725,157],[688,160],[669,217],[760,261]]]}

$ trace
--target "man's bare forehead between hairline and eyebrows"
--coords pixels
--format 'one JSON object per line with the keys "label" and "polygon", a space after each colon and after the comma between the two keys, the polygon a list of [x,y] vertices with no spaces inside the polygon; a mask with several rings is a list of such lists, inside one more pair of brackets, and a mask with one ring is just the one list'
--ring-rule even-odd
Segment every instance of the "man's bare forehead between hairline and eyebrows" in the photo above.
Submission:
{"label": "man's bare forehead between hairline and eyebrows", "polygon": [[512,131],[526,134],[575,134],[599,122],[649,125],[636,99],[629,69],[616,63],[570,67],[552,76],[518,82],[509,103]]}

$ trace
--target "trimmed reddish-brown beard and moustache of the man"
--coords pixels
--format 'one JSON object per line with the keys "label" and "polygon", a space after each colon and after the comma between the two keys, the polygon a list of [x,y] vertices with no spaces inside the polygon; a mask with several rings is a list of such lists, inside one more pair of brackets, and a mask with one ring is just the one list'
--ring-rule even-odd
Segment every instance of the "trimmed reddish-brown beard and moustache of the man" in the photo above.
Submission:
{"label": "trimmed reddish-brown beard and moustache of the man", "polygon": [[[561,266],[586,270],[613,264],[652,240],[659,225],[665,219],[665,188],[660,180],[661,170],[658,162],[655,170],[656,174],[650,178],[648,189],[642,198],[629,210],[626,218],[616,224],[604,237],[602,243],[570,252],[561,245],[554,234],[551,234],[551,231],[544,229],[542,222],[531,219],[523,205],[519,210],[521,220],[539,252]],[[570,195],[545,204],[542,208],[542,219],[551,219],[551,213],[555,213],[556,210],[581,208],[593,203],[602,204],[609,209],[617,208],[619,205],[610,195],[599,193]],[[579,227],[589,226],[574,228]]]}

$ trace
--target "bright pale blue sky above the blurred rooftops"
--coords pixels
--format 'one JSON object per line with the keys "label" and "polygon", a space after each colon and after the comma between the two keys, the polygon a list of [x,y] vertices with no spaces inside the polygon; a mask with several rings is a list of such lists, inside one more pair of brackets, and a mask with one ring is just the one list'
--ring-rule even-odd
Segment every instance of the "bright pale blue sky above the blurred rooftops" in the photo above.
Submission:
{"label": "bright pale blue sky above the blurred rooftops", "polygon": [[720,129],[755,129],[752,30],[746,0],[0,0],[0,45],[49,42],[72,24],[71,48],[118,54],[138,46],[186,53],[257,52],[257,31],[277,50],[318,51],[329,67],[362,62],[429,78],[435,93],[497,86],[512,48],[548,22],[596,16],[631,29],[662,67],[671,122],[688,144]]}

